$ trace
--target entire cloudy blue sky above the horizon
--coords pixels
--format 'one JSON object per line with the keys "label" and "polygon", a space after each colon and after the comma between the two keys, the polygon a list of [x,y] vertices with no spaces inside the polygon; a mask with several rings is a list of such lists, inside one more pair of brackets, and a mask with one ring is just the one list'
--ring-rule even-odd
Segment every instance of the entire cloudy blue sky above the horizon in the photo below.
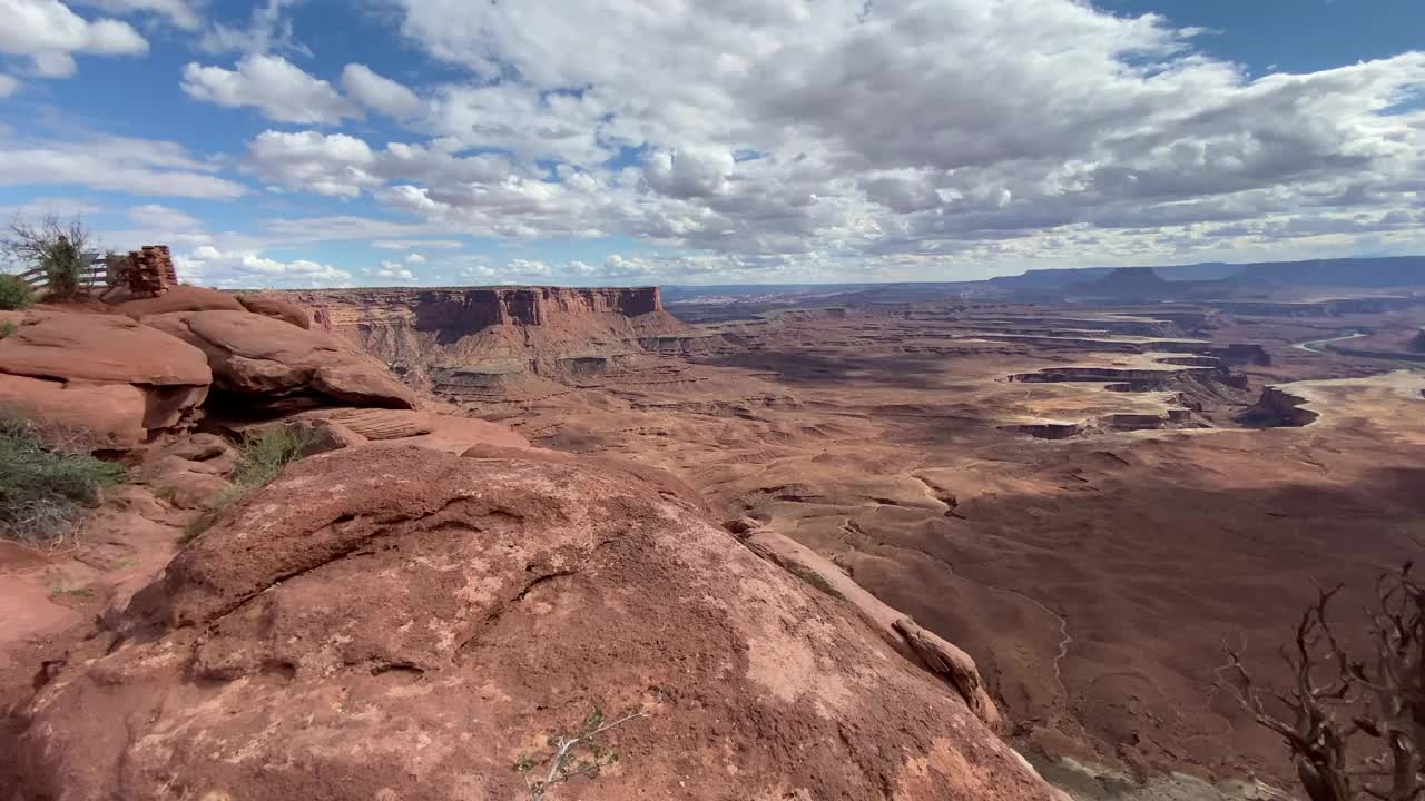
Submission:
{"label": "entire cloudy blue sky above the horizon", "polygon": [[1415,0],[0,0],[0,212],[222,286],[1425,252]]}

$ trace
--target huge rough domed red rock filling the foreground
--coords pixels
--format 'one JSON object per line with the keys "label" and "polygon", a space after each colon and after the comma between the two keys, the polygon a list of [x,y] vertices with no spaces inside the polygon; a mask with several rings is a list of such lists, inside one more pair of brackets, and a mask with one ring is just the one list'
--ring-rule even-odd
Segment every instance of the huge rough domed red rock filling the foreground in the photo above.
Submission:
{"label": "huge rough domed red rock filling the foreground", "polygon": [[[373,445],[229,509],[26,710],[27,797],[1045,801],[955,694],[694,505]],[[581,753],[581,758],[593,758]]]}

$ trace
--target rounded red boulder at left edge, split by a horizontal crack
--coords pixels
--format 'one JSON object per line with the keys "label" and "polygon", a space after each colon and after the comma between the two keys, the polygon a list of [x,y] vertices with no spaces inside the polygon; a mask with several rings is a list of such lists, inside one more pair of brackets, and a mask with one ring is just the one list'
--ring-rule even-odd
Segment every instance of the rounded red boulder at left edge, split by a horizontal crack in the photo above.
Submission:
{"label": "rounded red boulder at left edge, split by a horizontal crack", "polygon": [[0,339],[0,405],[93,448],[135,448],[208,395],[201,351],[127,316],[37,311],[17,319]]}

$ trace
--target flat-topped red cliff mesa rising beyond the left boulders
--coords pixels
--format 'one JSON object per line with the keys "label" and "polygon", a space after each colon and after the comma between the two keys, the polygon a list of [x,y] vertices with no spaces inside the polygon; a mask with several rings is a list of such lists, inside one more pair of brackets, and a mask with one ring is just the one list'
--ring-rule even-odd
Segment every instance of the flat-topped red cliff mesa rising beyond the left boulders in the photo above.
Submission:
{"label": "flat-topped red cliff mesa rising beyond the left boulders", "polygon": [[455,400],[543,395],[638,369],[646,343],[688,332],[657,286],[472,286],[286,292],[314,326]]}

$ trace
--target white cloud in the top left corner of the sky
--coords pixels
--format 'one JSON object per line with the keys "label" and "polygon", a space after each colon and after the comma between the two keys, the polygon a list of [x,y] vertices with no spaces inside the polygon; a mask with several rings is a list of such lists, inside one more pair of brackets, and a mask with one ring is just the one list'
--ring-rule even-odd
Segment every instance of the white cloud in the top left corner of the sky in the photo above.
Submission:
{"label": "white cloud in the top left corner of the sky", "polygon": [[67,77],[74,54],[135,56],[148,41],[120,20],[86,20],[58,0],[0,0],[0,53],[28,56],[43,77]]}

